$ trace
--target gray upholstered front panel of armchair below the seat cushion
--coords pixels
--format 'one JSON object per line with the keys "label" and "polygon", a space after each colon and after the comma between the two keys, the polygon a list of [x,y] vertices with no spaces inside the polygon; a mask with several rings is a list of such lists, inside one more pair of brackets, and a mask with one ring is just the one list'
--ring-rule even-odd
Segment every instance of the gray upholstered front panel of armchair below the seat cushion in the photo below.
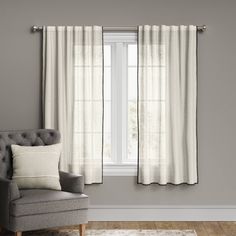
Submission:
{"label": "gray upholstered front panel of armchair below the seat cushion", "polygon": [[48,214],[10,217],[11,231],[29,231],[68,225],[86,224],[88,210],[63,211]]}

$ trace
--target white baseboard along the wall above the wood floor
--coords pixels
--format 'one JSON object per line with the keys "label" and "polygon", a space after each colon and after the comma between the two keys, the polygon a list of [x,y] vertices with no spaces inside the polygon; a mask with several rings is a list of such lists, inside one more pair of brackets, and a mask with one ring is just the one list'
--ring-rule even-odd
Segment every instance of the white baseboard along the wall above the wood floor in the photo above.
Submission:
{"label": "white baseboard along the wall above the wood floor", "polygon": [[91,205],[89,221],[236,221],[236,205]]}

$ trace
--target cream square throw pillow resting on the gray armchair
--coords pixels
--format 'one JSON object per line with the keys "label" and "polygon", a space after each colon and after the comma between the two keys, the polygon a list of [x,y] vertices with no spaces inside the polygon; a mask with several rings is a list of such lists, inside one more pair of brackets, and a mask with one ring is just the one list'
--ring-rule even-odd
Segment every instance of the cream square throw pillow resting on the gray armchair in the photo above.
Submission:
{"label": "cream square throw pillow resting on the gray armchair", "polygon": [[42,188],[61,190],[59,160],[61,144],[48,146],[11,145],[13,177],[20,189]]}

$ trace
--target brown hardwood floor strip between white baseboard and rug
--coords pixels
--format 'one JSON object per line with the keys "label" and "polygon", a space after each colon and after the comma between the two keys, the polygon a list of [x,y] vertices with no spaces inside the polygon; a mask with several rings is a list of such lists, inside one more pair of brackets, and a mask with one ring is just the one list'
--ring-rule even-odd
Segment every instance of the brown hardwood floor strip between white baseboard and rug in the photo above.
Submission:
{"label": "brown hardwood floor strip between white baseboard and rug", "polygon": [[194,229],[198,236],[236,236],[236,222],[90,222],[87,229]]}

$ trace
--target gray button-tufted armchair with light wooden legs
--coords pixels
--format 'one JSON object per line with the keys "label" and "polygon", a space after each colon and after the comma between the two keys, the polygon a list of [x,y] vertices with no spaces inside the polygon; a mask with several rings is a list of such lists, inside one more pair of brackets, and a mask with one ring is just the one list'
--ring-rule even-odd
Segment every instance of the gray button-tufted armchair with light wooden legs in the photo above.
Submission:
{"label": "gray button-tufted armchair with light wooden legs", "polygon": [[55,130],[0,132],[0,230],[21,236],[23,231],[80,225],[80,235],[84,235],[88,197],[83,194],[83,176],[60,172],[62,191],[18,189],[11,180],[11,144],[42,146],[59,140]]}

